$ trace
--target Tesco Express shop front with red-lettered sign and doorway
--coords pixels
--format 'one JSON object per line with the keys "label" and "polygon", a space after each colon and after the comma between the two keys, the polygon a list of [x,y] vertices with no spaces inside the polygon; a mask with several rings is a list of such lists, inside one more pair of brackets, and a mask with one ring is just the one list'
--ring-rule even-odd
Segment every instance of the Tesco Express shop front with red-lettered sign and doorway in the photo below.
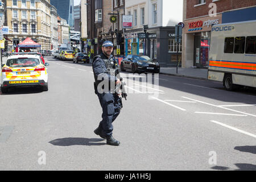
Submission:
{"label": "Tesco Express shop front with red-lettered sign and doorway", "polygon": [[189,19],[183,28],[183,67],[208,68],[210,34],[214,24],[222,22],[222,15]]}

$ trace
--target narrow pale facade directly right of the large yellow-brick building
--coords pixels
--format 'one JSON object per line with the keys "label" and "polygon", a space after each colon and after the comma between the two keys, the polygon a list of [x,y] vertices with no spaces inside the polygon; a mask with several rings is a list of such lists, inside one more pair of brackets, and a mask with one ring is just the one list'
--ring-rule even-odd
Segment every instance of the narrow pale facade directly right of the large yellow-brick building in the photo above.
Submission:
{"label": "narrow pale facade directly right of the large yellow-brick building", "polygon": [[51,48],[53,50],[58,49],[58,17],[57,9],[52,6],[51,7]]}

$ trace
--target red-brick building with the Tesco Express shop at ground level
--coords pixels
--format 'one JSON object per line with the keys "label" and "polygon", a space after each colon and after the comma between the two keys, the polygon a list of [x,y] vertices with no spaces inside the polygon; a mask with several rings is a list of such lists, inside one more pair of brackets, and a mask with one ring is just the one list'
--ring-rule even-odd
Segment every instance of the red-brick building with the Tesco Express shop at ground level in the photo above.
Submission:
{"label": "red-brick building with the Tesco Express shop at ground level", "polygon": [[182,66],[185,68],[208,67],[213,24],[256,19],[255,0],[183,0],[183,3]]}

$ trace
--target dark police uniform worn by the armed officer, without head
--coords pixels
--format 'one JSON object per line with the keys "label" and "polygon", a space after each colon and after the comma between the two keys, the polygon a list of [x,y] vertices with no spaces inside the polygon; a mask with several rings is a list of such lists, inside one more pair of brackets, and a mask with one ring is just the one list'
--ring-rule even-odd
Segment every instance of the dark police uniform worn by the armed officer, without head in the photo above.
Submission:
{"label": "dark police uniform worn by the armed officer, without head", "polygon": [[[109,69],[115,69],[115,74],[111,75]],[[108,89],[108,92],[98,93],[97,87],[101,82],[101,80],[98,80],[98,76],[104,77],[104,79],[109,79],[112,84],[113,82],[115,83],[117,78],[119,78],[117,62],[113,59],[112,55],[108,58],[104,53],[101,53],[93,59],[93,73],[95,78],[94,89],[102,107],[102,121],[98,126],[98,132],[101,133],[100,136],[102,138],[105,137],[108,139],[108,137],[113,134],[112,123],[120,113],[122,108],[122,99],[117,95],[117,93],[114,93],[113,90],[111,92],[110,88]]]}

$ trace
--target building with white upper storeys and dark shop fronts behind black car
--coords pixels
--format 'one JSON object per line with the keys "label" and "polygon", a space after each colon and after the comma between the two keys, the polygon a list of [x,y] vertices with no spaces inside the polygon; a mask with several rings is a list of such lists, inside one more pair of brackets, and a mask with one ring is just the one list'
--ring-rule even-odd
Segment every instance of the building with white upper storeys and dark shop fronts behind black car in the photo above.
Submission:
{"label": "building with white upper storeys and dark shop fronts behind black car", "polygon": [[147,55],[161,67],[175,67],[181,46],[175,43],[175,24],[182,21],[183,4],[174,0],[125,1],[125,14],[133,16],[126,29],[126,55]]}

